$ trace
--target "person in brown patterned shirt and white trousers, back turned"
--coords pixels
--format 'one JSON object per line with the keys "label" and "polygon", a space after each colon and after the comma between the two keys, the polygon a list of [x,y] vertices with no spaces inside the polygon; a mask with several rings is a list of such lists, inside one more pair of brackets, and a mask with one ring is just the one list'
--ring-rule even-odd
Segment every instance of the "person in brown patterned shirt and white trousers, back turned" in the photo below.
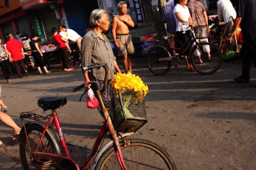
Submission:
{"label": "person in brown patterned shirt and white trousers, back turned", "polygon": [[[207,13],[204,7],[204,4],[202,4],[199,1],[196,0],[190,0],[188,2],[188,10],[189,13],[193,19],[193,24],[194,26],[202,26],[202,31],[206,31],[207,33],[210,32],[210,28],[208,26],[208,17]],[[205,27],[204,27],[205,26]],[[208,38],[203,38],[200,39],[201,42],[208,42]],[[193,47],[195,46],[196,43],[193,43]],[[211,60],[211,54],[210,54],[210,46],[205,45],[204,47],[204,52],[207,53],[208,55],[208,60]],[[196,63],[202,64],[203,61],[201,60],[200,52],[198,50],[195,51],[195,56],[197,56],[198,61]]]}

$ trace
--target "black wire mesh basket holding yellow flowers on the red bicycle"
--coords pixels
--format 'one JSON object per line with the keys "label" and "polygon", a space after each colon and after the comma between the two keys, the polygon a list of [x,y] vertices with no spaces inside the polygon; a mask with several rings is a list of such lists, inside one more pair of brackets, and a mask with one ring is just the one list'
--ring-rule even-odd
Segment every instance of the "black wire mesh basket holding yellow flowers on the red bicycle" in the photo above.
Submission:
{"label": "black wire mesh basket holding yellow flowers on the red bicycle", "polygon": [[117,132],[136,132],[148,122],[144,92],[134,92],[124,88],[125,92],[118,89],[108,103],[109,116]]}

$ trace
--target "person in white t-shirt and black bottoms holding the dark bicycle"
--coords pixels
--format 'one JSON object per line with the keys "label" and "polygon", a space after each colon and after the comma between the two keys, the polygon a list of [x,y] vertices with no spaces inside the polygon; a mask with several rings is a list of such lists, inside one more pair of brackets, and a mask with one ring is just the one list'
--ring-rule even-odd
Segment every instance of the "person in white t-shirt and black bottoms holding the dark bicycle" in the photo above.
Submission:
{"label": "person in white t-shirt and black bottoms holding the dark bicycle", "polygon": [[[190,38],[188,22],[193,23],[193,20],[188,11],[188,7],[186,6],[187,3],[188,0],[174,0],[174,4],[176,6],[173,9],[173,14],[176,20],[176,34],[182,44],[186,43]],[[188,48],[185,55],[187,70],[195,72],[196,70],[193,68],[192,64],[189,63],[189,56],[187,57],[187,55],[189,55],[190,50],[191,47]]]}

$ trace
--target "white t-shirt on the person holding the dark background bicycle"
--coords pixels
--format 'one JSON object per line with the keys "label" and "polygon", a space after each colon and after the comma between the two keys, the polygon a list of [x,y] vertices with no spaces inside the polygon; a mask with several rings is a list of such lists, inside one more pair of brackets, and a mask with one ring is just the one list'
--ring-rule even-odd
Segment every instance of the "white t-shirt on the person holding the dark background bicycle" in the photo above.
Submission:
{"label": "white t-shirt on the person holding the dark background bicycle", "polygon": [[173,9],[173,14],[174,14],[174,18],[176,20],[176,31],[187,31],[188,30],[188,25],[182,25],[182,23],[177,19],[175,13],[176,12],[180,12],[180,16],[182,19],[184,19],[185,21],[188,21],[189,18],[189,11],[188,11],[188,7],[184,5],[185,8],[183,8],[180,4],[176,4],[174,9]]}

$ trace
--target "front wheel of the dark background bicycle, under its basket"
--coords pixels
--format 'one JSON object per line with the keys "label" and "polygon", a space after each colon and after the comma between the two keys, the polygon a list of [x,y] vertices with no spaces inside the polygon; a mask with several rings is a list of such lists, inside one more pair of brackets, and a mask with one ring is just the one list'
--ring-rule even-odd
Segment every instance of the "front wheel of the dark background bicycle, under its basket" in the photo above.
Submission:
{"label": "front wheel of the dark background bicycle, under its basket", "polygon": [[[190,62],[194,69],[201,74],[212,74],[219,70],[222,64],[220,48],[210,42],[201,42],[198,47],[195,45],[190,52]],[[200,63],[199,58],[203,63]]]}

